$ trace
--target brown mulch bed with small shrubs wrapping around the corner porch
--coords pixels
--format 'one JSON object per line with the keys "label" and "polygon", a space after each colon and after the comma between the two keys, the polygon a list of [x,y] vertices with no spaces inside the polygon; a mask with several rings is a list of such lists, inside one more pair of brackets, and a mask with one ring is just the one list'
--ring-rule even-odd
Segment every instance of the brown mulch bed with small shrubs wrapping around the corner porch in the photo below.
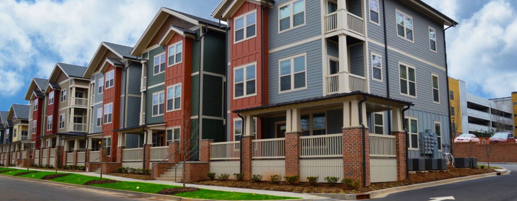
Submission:
{"label": "brown mulch bed with small shrubs wrapping around the corner porch", "polygon": [[[437,180],[451,179],[457,177],[465,177],[470,175],[479,175],[485,173],[495,172],[493,170],[485,169],[469,169],[469,168],[454,168],[448,167],[450,172],[436,172],[436,173],[417,173],[410,174],[408,179],[402,181],[392,181],[383,183],[372,183],[370,187],[359,188],[357,190],[344,189],[343,185],[338,183],[334,186],[330,186],[327,183],[317,183],[315,186],[311,186],[307,182],[300,182],[296,184],[286,184],[284,182],[271,183],[269,181],[253,182],[253,181],[237,181],[237,180],[203,180],[198,182],[192,182],[192,184],[201,185],[217,185],[223,187],[234,187],[234,188],[245,188],[245,189],[259,189],[259,190],[271,190],[271,191],[286,191],[295,193],[363,193],[369,191],[376,191],[381,189],[400,187],[403,185],[411,185],[416,183],[425,183]],[[341,178],[340,178],[341,179]]]}

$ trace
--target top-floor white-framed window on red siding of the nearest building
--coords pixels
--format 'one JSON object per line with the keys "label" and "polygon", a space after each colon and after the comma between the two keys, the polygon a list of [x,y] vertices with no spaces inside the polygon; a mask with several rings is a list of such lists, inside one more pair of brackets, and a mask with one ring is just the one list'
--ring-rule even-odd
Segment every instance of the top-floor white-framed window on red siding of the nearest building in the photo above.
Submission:
{"label": "top-floor white-framed window on red siding of the nearest building", "polygon": [[256,18],[256,10],[235,18],[235,28],[233,33],[235,43],[245,41],[256,36]]}

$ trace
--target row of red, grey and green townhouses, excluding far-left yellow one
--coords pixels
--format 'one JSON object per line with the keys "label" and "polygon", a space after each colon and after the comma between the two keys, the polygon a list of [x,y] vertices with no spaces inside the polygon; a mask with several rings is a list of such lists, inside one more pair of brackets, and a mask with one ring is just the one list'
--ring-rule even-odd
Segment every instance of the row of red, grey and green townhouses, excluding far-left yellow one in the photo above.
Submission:
{"label": "row of red, grey and green townhouses, excluding far-left yellow one", "polygon": [[[102,42],[86,67],[35,78],[31,160],[369,185],[450,152],[444,26],[458,23],[429,5],[224,0],[212,17],[162,7],[134,47]],[[423,132],[440,154],[422,154]]]}

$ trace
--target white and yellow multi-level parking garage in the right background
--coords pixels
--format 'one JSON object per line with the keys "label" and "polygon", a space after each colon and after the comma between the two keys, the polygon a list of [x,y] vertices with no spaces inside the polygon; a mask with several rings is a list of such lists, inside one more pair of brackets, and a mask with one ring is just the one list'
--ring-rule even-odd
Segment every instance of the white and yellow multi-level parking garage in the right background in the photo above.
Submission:
{"label": "white and yellow multi-level parking garage in the right background", "polygon": [[[453,133],[488,130],[515,133],[512,97],[485,99],[469,94],[465,81],[449,78],[451,129]],[[513,96],[513,94],[512,94]]]}

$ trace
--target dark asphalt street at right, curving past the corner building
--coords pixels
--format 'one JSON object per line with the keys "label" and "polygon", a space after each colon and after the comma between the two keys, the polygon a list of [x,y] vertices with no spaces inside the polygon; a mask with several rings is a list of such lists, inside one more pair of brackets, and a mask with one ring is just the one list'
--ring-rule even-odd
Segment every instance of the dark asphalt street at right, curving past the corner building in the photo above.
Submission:
{"label": "dark asphalt street at right, curving past the corner building", "polygon": [[[492,164],[491,164],[492,165]],[[469,200],[469,201],[509,201],[517,200],[517,165],[493,164],[512,171],[509,175],[500,175],[456,182],[436,187],[404,191],[390,194],[373,201],[430,201],[430,200]],[[448,199],[445,199],[445,198]],[[431,199],[435,198],[435,199]],[[438,198],[438,199],[436,199]]]}

